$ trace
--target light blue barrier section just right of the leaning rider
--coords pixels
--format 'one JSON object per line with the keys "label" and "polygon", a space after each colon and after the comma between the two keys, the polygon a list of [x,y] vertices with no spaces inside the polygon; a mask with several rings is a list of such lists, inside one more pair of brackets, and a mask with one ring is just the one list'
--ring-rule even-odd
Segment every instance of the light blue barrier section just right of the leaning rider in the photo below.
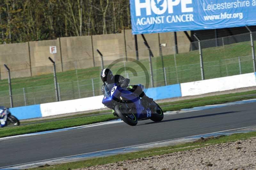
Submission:
{"label": "light blue barrier section just right of the leaning rider", "polygon": [[145,91],[147,96],[154,100],[181,97],[180,84],[149,88]]}

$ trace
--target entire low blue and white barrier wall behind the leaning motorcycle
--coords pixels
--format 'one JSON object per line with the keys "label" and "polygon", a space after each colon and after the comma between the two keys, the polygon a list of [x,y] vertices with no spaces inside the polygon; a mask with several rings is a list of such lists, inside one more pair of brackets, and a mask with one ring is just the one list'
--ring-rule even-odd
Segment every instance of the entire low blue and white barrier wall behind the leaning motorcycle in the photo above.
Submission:
{"label": "entire low blue and white barrier wall behind the leaning motorcycle", "polygon": [[[149,88],[146,94],[155,100],[202,95],[211,92],[256,86],[256,73],[240,74],[216,79],[174,84]],[[103,108],[103,96],[87,97],[61,102],[37,104],[11,108],[11,113],[18,119],[31,119],[66,113],[84,112]]]}

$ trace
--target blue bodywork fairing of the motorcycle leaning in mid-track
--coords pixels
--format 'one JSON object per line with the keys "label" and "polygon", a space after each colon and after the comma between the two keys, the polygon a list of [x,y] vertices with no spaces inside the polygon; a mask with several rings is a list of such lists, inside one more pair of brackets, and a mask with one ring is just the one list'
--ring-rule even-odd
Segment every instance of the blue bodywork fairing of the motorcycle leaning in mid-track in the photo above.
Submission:
{"label": "blue bodywork fairing of the motorcycle leaning in mid-track", "polygon": [[[119,86],[117,86],[117,88],[115,89],[115,91],[112,92],[112,95],[111,95],[111,91],[113,90],[113,87],[116,86],[116,84],[111,84],[111,85],[109,84],[108,86],[109,86],[108,87],[109,89],[106,96],[102,100],[102,104],[104,104],[108,108],[113,109],[112,100],[116,100],[116,99],[120,100],[120,97],[122,97],[125,100],[129,100],[129,102],[133,103],[131,110],[134,110],[135,112],[134,114],[138,120],[149,118],[147,114],[147,109],[145,109],[144,106],[141,104],[140,98],[137,95]],[[138,86],[142,88],[141,84],[138,84]]]}

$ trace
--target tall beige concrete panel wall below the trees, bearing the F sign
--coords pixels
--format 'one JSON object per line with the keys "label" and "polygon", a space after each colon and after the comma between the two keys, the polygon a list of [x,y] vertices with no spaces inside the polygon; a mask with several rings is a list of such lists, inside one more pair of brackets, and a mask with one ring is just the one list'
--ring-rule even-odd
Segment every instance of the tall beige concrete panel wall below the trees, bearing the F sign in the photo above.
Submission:
{"label": "tall beige concrete panel wall below the trees, bearing the F sign", "polygon": [[[188,52],[190,43],[186,35],[183,32],[178,32],[177,36],[179,52]],[[148,49],[144,45],[141,35],[137,37],[140,59],[148,58]],[[159,56],[159,43],[167,43],[167,47],[163,48],[164,55],[173,54],[174,34],[161,33],[159,37],[160,41],[158,34],[145,34],[154,56]],[[57,54],[50,54],[50,46],[57,46]],[[63,37],[56,40],[2,44],[0,45],[1,79],[7,78],[4,64],[10,67],[12,78],[52,73],[52,63],[48,57],[55,60],[57,72],[73,70],[75,67],[79,69],[101,66],[101,58],[97,49],[104,56],[104,66],[108,66],[118,58],[124,58],[126,55],[136,58],[134,35],[131,30],[125,30],[119,34]],[[74,61],[77,61],[76,65]]]}

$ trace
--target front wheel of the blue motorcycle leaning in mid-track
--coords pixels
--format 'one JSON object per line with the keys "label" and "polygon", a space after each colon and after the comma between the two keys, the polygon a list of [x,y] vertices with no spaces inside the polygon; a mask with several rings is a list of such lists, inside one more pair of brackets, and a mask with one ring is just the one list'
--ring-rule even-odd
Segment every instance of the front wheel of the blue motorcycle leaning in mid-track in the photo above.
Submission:
{"label": "front wheel of the blue motorcycle leaning in mid-track", "polygon": [[132,113],[131,111],[125,111],[125,110],[121,110],[120,108],[122,108],[122,105],[116,105],[115,106],[115,112],[116,114],[128,125],[130,126],[136,126],[138,123],[138,120],[135,116],[134,113]]}

